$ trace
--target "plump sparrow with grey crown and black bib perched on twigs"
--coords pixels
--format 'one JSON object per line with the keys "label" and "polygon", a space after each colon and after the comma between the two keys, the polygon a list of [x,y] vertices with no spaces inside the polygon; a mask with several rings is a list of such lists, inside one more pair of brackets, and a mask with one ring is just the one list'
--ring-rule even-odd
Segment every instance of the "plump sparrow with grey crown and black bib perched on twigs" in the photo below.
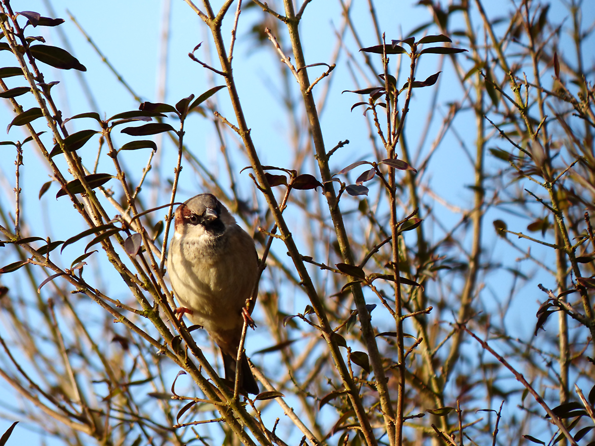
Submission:
{"label": "plump sparrow with grey crown and black bib perched on twigs", "polygon": [[[253,238],[214,195],[197,195],[176,209],[167,270],[180,303],[176,312],[206,329],[221,349],[226,379],[234,382],[244,319],[252,321],[246,299],[258,277]],[[240,388],[258,394],[246,355],[240,366]]]}

